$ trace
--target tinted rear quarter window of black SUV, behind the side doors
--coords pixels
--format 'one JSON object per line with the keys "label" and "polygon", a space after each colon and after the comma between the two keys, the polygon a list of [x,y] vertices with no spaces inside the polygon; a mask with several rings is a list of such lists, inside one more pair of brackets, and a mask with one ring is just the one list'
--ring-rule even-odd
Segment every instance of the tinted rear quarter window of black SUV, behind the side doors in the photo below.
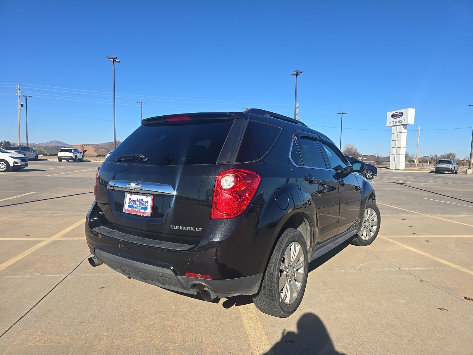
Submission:
{"label": "tinted rear quarter window of black SUV, behind the side doors", "polygon": [[256,121],[249,121],[246,126],[240,150],[236,156],[237,162],[258,160],[266,154],[276,138],[278,138],[281,129]]}

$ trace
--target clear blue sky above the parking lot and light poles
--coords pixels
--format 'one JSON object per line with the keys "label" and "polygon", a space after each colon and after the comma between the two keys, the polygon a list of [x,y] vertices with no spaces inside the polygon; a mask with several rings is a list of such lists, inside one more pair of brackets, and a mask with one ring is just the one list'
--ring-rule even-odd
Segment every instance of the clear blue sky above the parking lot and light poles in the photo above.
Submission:
{"label": "clear blue sky above the parking lot and light poles", "polygon": [[[136,101],[144,116],[292,116],[289,74],[303,70],[299,116],[334,142],[343,111],[342,145],[388,155],[386,112],[414,107],[420,156],[462,158],[471,129],[444,129],[473,124],[472,15],[470,0],[1,1],[0,140],[17,141],[21,83],[29,142],[112,141],[112,55],[120,140],[139,125]],[[24,123],[23,111],[22,141]],[[415,153],[417,127],[407,139]]]}

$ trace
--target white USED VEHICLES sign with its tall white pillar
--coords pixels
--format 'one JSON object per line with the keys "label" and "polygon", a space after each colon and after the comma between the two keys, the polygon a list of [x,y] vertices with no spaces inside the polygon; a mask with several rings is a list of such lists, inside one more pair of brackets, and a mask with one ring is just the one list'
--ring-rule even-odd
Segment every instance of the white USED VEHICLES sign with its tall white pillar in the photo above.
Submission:
{"label": "white USED VEHICLES sign with its tall white pillar", "polygon": [[386,126],[391,129],[389,169],[404,170],[406,160],[407,125],[414,124],[415,108],[391,111],[386,115]]}

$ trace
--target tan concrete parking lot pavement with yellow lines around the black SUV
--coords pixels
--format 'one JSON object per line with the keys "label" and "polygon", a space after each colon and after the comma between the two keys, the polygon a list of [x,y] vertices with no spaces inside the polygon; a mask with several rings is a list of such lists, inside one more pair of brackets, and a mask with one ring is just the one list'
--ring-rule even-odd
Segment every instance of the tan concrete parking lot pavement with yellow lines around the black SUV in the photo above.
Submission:
{"label": "tan concrete parking lot pavement with yellow lines around the black SUV", "polygon": [[278,319],[249,297],[204,302],[89,266],[98,165],[0,174],[0,353],[472,354],[472,177],[379,171],[377,240],[312,262]]}

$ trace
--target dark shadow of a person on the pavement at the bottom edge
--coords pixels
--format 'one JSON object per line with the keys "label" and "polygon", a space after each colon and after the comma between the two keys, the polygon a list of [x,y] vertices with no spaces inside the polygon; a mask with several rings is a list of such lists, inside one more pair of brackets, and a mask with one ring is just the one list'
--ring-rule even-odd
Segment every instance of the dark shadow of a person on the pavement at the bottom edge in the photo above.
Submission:
{"label": "dark shadow of a person on the pavement at the bottom edge", "polygon": [[296,332],[283,330],[280,340],[266,354],[343,355],[335,350],[324,322],[309,312],[299,318]]}

